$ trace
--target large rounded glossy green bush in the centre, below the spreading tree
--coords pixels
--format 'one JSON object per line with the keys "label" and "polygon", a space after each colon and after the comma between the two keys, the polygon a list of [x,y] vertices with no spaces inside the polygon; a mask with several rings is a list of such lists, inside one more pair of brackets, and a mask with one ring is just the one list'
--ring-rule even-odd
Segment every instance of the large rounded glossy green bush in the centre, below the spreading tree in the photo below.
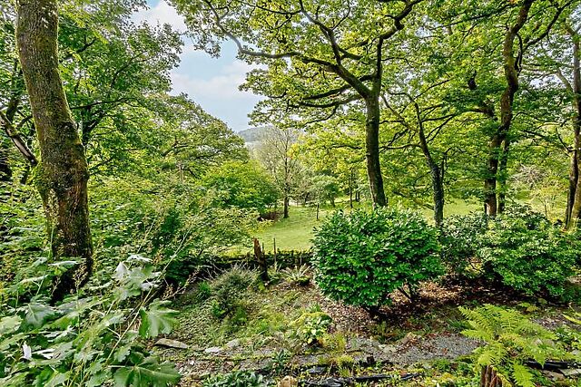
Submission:
{"label": "large rounded glossy green bush in the centre, below the spreading tree", "polygon": [[398,289],[413,298],[420,281],[442,272],[437,231],[412,211],[337,212],[316,231],[313,246],[320,289],[350,305],[373,309]]}

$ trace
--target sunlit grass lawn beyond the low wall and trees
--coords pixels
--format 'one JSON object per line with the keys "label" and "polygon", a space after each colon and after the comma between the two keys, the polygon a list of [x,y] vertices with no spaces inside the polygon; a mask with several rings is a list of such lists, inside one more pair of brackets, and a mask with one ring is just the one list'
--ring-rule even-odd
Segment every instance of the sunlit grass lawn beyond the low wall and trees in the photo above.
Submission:
{"label": "sunlit grass lawn beyond the low wall and trees", "polygon": [[[369,203],[354,203],[355,208],[368,207]],[[468,203],[465,201],[454,201],[446,205],[445,215],[464,215],[471,211],[478,211],[481,205],[478,203]],[[291,206],[290,217],[280,218],[257,231],[258,237],[264,244],[266,251],[276,247],[280,250],[307,250],[310,248],[310,240],[313,237],[313,228],[320,225],[320,222],[332,214],[334,211],[344,209],[350,210],[349,199],[343,198],[337,201],[337,207],[331,208],[329,205],[320,208],[319,220],[317,220],[316,207]],[[431,221],[432,211],[429,208],[421,208],[420,212]],[[247,251],[249,247],[241,247],[241,251]]]}

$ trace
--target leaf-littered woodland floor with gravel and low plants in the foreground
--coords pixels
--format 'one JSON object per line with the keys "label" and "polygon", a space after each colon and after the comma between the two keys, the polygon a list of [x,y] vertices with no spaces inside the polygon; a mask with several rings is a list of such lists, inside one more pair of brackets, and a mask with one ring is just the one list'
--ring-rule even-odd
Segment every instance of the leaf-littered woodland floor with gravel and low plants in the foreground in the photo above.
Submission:
{"label": "leaf-littered woodland floor with gravel and low plants in the foreground", "polygon": [[[525,313],[528,309],[532,319],[549,329],[568,324],[563,314],[576,308],[525,298],[503,288],[451,281],[425,284],[420,294],[415,304],[396,296],[393,305],[382,310],[379,322],[361,308],[330,301],[315,286],[281,283],[251,295],[247,320],[236,327],[213,318],[208,308],[191,305],[191,295],[186,294],[176,305],[181,309],[180,324],[171,338],[189,348],[160,352],[178,364],[183,386],[199,385],[209,375],[233,370],[260,372],[272,381],[294,375],[302,385],[313,386],[333,385],[317,384],[330,377],[369,374],[389,379],[360,385],[471,385],[473,365],[468,355],[478,343],[460,334],[467,325],[458,305],[507,305]],[[291,321],[310,305],[320,305],[333,319],[328,342],[317,347],[293,343],[285,334]],[[458,375],[466,377],[458,379]],[[542,385],[577,385],[556,372],[546,376]],[[409,380],[402,382],[402,378]]]}

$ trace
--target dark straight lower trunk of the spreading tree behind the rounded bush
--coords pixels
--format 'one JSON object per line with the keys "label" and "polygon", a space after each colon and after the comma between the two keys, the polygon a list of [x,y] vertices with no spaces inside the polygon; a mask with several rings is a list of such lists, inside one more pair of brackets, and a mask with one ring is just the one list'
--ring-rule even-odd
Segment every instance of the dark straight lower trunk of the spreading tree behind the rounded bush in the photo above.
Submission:
{"label": "dark straight lower trunk of the spreading tree behind the rounded bush", "polygon": [[383,177],[379,161],[379,98],[368,98],[366,107],[365,150],[371,200],[374,206],[386,206],[388,202],[383,190]]}

